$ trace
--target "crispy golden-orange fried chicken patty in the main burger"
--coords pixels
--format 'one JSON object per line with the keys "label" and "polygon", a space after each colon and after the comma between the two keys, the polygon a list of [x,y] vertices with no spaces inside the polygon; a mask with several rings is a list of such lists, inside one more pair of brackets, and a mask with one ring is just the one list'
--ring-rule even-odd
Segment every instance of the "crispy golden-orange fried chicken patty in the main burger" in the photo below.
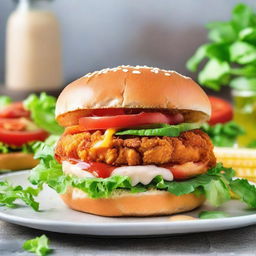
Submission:
{"label": "crispy golden-orange fried chicken patty in the main burger", "polygon": [[203,162],[210,168],[216,164],[210,138],[201,130],[186,131],[179,137],[113,136],[109,147],[93,148],[102,139],[101,131],[64,134],[55,148],[56,158],[114,166]]}

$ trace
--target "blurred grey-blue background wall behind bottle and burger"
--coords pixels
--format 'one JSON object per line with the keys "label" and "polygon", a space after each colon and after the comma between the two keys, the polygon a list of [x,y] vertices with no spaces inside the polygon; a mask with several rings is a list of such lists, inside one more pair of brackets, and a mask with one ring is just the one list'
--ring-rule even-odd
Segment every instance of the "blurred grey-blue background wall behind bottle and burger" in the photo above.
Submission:
{"label": "blurred grey-blue background wall behind bottle and burger", "polygon": [[[0,82],[5,81],[6,23],[17,1],[0,2]],[[205,24],[227,20],[236,0],[55,0],[61,29],[63,86],[87,72],[120,64],[174,69],[207,41]],[[255,0],[243,1],[255,6]],[[43,4],[43,3],[42,3]],[[17,42],[18,44],[19,42]],[[223,95],[229,98],[228,89]]]}

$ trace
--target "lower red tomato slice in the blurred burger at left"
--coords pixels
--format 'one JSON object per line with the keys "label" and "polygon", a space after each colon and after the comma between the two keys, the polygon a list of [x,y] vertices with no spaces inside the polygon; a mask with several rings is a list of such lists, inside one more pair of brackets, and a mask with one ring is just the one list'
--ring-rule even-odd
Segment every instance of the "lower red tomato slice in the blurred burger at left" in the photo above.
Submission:
{"label": "lower red tomato slice in the blurred burger at left", "polygon": [[0,141],[18,147],[30,141],[44,141],[48,135],[47,132],[41,129],[36,131],[8,131],[0,128]]}

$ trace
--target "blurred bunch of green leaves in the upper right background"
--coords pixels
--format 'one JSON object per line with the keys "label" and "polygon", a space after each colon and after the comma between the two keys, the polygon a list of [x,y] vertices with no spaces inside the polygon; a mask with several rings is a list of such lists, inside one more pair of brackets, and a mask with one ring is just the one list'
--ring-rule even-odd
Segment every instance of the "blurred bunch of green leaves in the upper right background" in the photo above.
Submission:
{"label": "blurred bunch of green leaves in the upper right background", "polygon": [[256,12],[237,4],[229,21],[212,22],[207,29],[210,42],[197,49],[187,68],[195,72],[207,59],[198,74],[202,85],[213,90],[220,90],[223,85],[256,90]]}

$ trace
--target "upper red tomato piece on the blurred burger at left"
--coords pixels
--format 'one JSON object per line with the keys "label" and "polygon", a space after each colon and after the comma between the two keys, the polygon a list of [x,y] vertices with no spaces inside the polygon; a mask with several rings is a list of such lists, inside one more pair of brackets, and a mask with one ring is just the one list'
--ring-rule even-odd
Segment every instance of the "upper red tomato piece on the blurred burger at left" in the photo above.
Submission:
{"label": "upper red tomato piece on the blurred burger at left", "polygon": [[3,109],[0,109],[0,117],[3,118],[17,118],[29,117],[30,113],[27,111],[22,102],[14,102]]}

